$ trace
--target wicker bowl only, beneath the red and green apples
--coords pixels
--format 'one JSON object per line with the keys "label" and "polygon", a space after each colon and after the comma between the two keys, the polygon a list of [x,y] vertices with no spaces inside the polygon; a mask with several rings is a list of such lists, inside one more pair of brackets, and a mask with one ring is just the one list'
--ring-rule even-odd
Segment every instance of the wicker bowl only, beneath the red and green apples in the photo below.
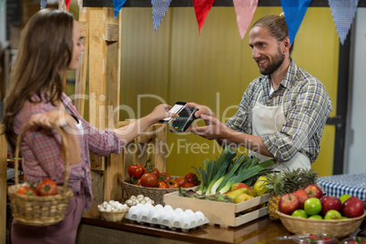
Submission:
{"label": "wicker bowl only, beneath the red and green apples", "polygon": [[335,238],[344,238],[360,228],[366,212],[352,219],[303,219],[283,214],[276,210],[283,226],[294,234],[328,234]]}

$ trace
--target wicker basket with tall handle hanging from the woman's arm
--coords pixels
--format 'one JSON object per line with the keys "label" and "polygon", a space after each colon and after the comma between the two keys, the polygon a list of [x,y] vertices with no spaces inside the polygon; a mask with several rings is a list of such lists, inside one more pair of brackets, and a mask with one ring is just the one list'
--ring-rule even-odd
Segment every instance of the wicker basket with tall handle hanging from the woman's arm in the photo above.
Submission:
{"label": "wicker basket with tall handle hanging from the woman's arm", "polygon": [[64,131],[55,127],[60,133],[63,140],[63,147],[66,152],[66,171],[64,186],[57,186],[58,194],[55,196],[25,196],[15,193],[15,191],[22,187],[29,187],[28,183],[19,184],[18,178],[18,156],[19,145],[21,138],[28,126],[25,126],[20,132],[16,140],[15,147],[15,185],[8,188],[8,195],[10,198],[10,208],[12,210],[13,217],[24,225],[30,226],[48,226],[53,225],[64,219],[66,209],[70,198],[74,195],[70,188],[67,188],[68,173],[69,173],[69,155],[68,146]]}

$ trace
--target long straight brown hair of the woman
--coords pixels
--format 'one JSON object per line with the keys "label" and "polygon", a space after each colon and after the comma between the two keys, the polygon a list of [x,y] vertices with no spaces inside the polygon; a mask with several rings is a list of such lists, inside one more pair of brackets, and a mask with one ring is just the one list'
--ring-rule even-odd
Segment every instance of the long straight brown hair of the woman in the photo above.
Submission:
{"label": "long straight brown hair of the woman", "polygon": [[[40,102],[41,95],[53,105],[61,100],[73,53],[73,25],[73,15],[56,9],[38,11],[25,25],[5,97],[2,133],[13,148],[15,116],[25,101]],[[39,99],[32,99],[35,95]]]}

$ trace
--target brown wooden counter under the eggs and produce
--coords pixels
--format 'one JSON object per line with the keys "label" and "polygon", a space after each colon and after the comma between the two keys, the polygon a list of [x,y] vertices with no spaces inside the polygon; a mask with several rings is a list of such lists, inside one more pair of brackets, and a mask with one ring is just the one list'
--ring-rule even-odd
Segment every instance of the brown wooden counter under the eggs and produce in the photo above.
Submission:
{"label": "brown wooden counter under the eggs and produce", "polygon": [[268,216],[256,219],[238,228],[220,228],[205,225],[187,232],[162,229],[131,223],[101,220],[97,206],[84,215],[78,229],[76,243],[294,243],[290,240],[275,240],[291,235],[280,222]]}

